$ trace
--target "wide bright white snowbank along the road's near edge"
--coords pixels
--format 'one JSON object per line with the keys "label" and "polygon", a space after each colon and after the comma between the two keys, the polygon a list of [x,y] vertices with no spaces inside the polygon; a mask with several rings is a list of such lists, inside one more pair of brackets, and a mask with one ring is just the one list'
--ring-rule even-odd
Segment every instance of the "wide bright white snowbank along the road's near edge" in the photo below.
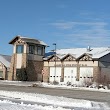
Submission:
{"label": "wide bright white snowbank along the road's near edge", "polygon": [[100,108],[106,108],[106,110],[108,109],[107,105],[105,105],[104,103],[58,97],[58,96],[43,95],[43,94],[0,91],[0,96],[4,98],[9,98],[9,99],[10,98],[18,99],[21,101],[25,100],[25,101],[33,101],[41,104],[43,103],[45,105],[48,105],[49,107],[56,107],[56,108],[79,107],[79,108],[94,109],[94,110],[100,109]]}

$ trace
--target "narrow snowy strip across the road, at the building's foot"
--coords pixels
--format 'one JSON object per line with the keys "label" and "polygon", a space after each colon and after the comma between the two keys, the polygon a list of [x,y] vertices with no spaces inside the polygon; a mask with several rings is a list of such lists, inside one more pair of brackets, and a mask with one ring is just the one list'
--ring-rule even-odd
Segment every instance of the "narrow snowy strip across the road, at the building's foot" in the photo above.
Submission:
{"label": "narrow snowy strip across the road, at the building's foot", "polygon": [[58,85],[54,85],[54,84],[50,84],[50,83],[44,83],[44,82],[23,82],[23,81],[8,81],[8,80],[0,80],[0,84],[2,85],[15,85],[15,86],[33,86],[33,85],[37,85],[37,86],[41,86],[41,87],[46,87],[46,88],[59,88],[59,89],[76,89],[76,90],[89,90],[89,91],[99,91],[99,92],[110,92],[110,90],[105,87],[105,89],[103,88],[96,88],[96,87],[73,87],[71,85],[67,86],[63,83],[60,83]]}

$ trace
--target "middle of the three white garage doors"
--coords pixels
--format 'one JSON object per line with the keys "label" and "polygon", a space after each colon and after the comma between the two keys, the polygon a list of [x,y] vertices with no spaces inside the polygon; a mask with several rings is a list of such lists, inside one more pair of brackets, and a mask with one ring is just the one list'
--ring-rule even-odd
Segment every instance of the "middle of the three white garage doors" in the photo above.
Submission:
{"label": "middle of the three white garage doors", "polygon": [[65,67],[64,68],[64,83],[70,82],[76,84],[76,67]]}

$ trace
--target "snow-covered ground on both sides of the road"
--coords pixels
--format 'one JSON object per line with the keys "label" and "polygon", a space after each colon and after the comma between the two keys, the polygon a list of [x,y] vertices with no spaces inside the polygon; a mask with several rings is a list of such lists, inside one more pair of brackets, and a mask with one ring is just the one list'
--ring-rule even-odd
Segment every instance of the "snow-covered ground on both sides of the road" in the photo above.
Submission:
{"label": "snow-covered ground on both sides of the road", "polygon": [[[0,81],[0,84],[15,86],[41,86],[60,89],[83,89],[99,92],[110,92],[110,90],[108,90],[107,88],[97,89],[86,87],[73,87],[63,84],[52,85],[41,82]],[[43,95],[35,93],[0,90],[0,99],[0,110],[110,110],[109,106],[106,103],[58,96],[49,96],[45,94]],[[27,101],[28,104],[25,103],[25,101]]]}

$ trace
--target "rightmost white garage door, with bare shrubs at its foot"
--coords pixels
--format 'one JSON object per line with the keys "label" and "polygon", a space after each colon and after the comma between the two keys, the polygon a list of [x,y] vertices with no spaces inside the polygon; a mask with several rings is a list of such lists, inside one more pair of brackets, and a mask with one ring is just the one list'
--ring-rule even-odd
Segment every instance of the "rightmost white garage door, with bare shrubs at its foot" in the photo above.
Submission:
{"label": "rightmost white garage door, with bare shrubs at its foot", "polygon": [[81,67],[80,68],[80,84],[87,85],[93,80],[93,67]]}

